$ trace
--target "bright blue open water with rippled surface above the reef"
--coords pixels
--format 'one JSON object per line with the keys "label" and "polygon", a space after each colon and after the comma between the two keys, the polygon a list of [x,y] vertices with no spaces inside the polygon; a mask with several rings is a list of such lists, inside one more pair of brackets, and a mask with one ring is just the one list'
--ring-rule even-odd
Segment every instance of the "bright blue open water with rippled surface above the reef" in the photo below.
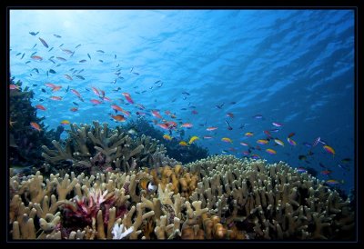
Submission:
{"label": "bright blue open water with rippled surface above the reef", "polygon": [[[148,120],[157,119],[150,114],[159,110],[168,121],[192,123],[192,128],[184,128],[185,140],[197,135],[200,139],[195,143],[206,146],[210,154],[242,157],[248,147],[240,142],[259,145],[261,150],[251,150],[248,156],[258,154],[269,163],[286,161],[292,167],[311,167],[318,172],[324,170],[321,163],[332,174],[318,174],[320,179],[344,180],[339,187],[347,192],[353,187],[352,11],[12,10],[10,49],[11,75],[34,90],[34,105],[46,108],[38,110],[37,115],[45,116],[44,124],[50,128],[65,119],[71,123],[98,120],[115,126],[110,118],[114,114],[112,104],[132,113],[127,120],[136,119],[136,111],[147,113]],[[61,49],[75,53],[71,56]],[[43,60],[31,59],[34,52]],[[55,56],[54,63],[48,60],[51,56]],[[73,74],[71,68],[84,71]],[[56,74],[47,76],[49,69]],[[121,74],[116,75],[118,69]],[[71,75],[73,80],[64,75]],[[62,89],[52,93],[45,83]],[[68,86],[76,89],[85,102],[66,92]],[[93,93],[93,86],[104,90],[111,102],[93,105],[90,99],[101,100]],[[189,95],[182,94],[186,92]],[[130,94],[134,104],[130,105],[121,93]],[[63,99],[55,101],[49,98],[51,95]],[[78,110],[72,112],[72,107]],[[167,110],[177,119],[166,115]],[[227,129],[226,120],[232,130]],[[283,126],[276,127],[273,122]],[[208,126],[218,129],[208,132]],[[279,131],[271,134],[284,146],[274,141],[256,143],[267,137],[264,130],[275,128]],[[247,132],[254,135],[247,137]],[[288,144],[290,133],[295,133],[291,138],[296,146]],[[204,135],[213,138],[204,139]],[[232,144],[221,142],[222,137],[230,138]],[[317,137],[334,148],[335,156],[319,143],[311,148],[313,154],[306,161],[299,160],[298,155],[310,150],[303,143],[312,144]],[[268,154],[267,148],[277,154]],[[348,157],[348,169],[340,168],[340,161]]]}

